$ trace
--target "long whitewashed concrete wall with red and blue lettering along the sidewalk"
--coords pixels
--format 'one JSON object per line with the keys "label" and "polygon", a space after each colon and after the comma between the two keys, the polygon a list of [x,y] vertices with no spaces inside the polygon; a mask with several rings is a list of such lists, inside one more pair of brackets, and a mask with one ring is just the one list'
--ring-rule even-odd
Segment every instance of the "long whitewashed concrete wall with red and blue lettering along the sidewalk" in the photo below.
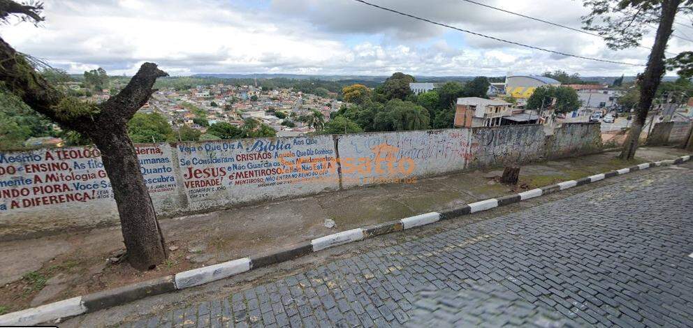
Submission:
{"label": "long whitewashed concrete wall with red and blue lettering along the sidewalk", "polygon": [[[547,148],[542,126],[138,144],[161,216],[298,197],[460,170],[585,154],[598,125],[567,125]],[[0,235],[118,221],[98,149],[0,153]]]}

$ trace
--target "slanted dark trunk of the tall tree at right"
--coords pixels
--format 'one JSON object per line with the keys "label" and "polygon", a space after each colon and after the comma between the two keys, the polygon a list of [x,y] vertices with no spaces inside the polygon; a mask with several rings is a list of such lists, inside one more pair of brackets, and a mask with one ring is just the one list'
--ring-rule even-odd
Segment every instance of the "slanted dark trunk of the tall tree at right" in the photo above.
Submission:
{"label": "slanted dark trunk of the tall tree at right", "polygon": [[633,127],[628,131],[628,137],[623,144],[623,151],[620,158],[632,159],[635,156],[635,151],[638,148],[640,133],[645,121],[648,117],[648,111],[652,106],[652,99],[655,98],[655,92],[659,87],[659,82],[662,81],[664,75],[664,50],[666,50],[666,42],[671,36],[671,27],[676,16],[676,11],[681,0],[664,0],[662,1],[662,18],[659,20],[657,28],[657,36],[655,36],[655,45],[652,46],[652,52],[648,59],[647,68],[643,73],[642,81],[640,82],[640,101],[638,102],[638,110]]}

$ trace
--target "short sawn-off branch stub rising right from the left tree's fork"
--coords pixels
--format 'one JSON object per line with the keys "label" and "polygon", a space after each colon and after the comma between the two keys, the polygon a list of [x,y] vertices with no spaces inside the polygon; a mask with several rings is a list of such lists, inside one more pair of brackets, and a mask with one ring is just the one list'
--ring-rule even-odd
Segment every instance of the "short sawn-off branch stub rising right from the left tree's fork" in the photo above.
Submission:
{"label": "short sawn-off branch stub rising right from the left tree's fork", "polygon": [[168,76],[168,73],[157,68],[156,64],[142,64],[122,91],[101,104],[99,120],[103,123],[126,124],[154,93],[152,87],[156,78],[163,76]]}

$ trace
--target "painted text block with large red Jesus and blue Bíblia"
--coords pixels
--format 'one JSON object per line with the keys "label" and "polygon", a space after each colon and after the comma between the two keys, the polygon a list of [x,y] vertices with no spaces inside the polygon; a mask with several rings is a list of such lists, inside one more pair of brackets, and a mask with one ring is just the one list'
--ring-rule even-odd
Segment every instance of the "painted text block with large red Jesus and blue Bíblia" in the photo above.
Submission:
{"label": "painted text block with large red Jesus and blue B\u00edblia", "polygon": [[277,137],[178,144],[191,209],[339,188],[332,137]]}

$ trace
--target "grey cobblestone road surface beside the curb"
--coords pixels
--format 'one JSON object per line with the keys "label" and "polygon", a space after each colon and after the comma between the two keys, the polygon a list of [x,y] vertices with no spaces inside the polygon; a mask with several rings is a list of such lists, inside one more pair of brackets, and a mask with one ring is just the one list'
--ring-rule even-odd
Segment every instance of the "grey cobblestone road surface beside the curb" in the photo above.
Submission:
{"label": "grey cobblestone road surface beside the curb", "polygon": [[[422,288],[496,285],[571,325],[692,327],[693,170],[686,167],[666,168],[661,179],[634,175],[126,325],[402,326],[415,322]],[[531,323],[509,312],[509,324]]]}

